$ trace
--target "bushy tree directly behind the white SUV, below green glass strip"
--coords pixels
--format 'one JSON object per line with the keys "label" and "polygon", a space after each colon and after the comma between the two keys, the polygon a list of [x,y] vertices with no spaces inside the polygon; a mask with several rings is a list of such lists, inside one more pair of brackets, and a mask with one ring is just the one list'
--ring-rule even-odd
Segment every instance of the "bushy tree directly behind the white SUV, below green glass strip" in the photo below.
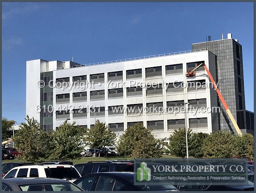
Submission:
{"label": "bushy tree directly behind the white SUV, below green glass strip", "polygon": [[73,160],[80,159],[87,128],[75,126],[75,122],[68,123],[67,120],[52,132],[52,153],[50,160]]}

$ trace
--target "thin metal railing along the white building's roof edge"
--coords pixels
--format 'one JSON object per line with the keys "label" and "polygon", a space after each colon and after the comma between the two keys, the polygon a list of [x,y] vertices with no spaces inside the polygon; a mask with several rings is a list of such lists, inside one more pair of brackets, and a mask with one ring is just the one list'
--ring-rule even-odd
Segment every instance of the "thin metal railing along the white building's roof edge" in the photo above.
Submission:
{"label": "thin metal railing along the white building's roof edge", "polygon": [[187,51],[182,51],[182,52],[162,53],[162,54],[157,54],[157,55],[150,55],[150,56],[143,56],[143,57],[136,57],[136,58],[129,58],[129,59],[111,60],[111,61],[107,61],[107,62],[97,62],[97,63],[90,63],[90,64],[72,65],[70,67],[60,67],[60,68],[57,68],[57,69],[52,69],[52,71],[62,70],[62,69],[69,69],[69,68],[77,68],[77,67],[94,66],[94,65],[113,64],[113,63],[118,63],[118,62],[127,62],[127,61],[142,60],[142,59],[149,59],[149,58],[157,58],[157,57],[163,57],[163,56],[178,55],[178,54],[183,54],[183,53],[202,52],[202,51],[206,51],[206,50],[207,50],[207,48],[201,48],[201,49],[197,49],[197,50],[187,50]]}

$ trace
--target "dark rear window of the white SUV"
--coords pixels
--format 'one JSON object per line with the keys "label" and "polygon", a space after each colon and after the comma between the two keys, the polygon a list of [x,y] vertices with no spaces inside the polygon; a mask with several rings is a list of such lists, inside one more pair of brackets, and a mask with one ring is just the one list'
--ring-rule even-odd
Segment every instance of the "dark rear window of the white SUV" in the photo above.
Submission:
{"label": "dark rear window of the white SUV", "polygon": [[78,179],[79,173],[74,167],[53,167],[45,168],[46,177],[54,177],[60,179]]}

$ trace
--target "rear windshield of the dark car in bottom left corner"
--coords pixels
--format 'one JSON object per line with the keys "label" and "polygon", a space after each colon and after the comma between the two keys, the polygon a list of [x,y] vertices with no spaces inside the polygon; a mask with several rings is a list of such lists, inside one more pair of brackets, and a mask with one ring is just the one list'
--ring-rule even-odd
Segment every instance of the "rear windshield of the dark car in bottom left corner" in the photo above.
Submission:
{"label": "rear windshield of the dark car in bottom left corner", "polygon": [[83,191],[71,183],[46,183],[19,185],[21,191]]}

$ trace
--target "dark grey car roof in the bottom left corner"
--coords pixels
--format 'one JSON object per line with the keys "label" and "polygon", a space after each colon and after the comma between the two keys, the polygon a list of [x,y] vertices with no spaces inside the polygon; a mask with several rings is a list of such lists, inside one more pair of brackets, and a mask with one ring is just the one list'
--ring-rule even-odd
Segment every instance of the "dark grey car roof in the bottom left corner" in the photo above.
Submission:
{"label": "dark grey car roof in the bottom left corner", "polygon": [[14,177],[2,179],[2,182],[14,182],[17,185],[20,184],[38,184],[38,183],[69,183],[63,179],[50,178],[50,177]]}

